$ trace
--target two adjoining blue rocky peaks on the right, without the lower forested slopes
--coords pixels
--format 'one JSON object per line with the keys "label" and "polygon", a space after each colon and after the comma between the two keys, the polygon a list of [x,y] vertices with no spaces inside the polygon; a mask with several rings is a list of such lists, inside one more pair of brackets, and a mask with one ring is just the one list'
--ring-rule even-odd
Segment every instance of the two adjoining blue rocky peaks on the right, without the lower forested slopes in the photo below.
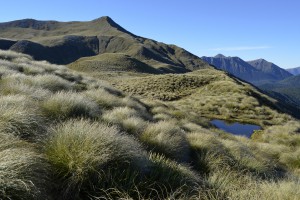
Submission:
{"label": "two adjoining blue rocky peaks on the right, without the lower forested slopes", "polygon": [[215,57],[202,57],[202,59],[218,69],[227,71],[257,86],[293,76],[286,70],[264,59],[244,61],[239,57],[226,57],[221,54]]}

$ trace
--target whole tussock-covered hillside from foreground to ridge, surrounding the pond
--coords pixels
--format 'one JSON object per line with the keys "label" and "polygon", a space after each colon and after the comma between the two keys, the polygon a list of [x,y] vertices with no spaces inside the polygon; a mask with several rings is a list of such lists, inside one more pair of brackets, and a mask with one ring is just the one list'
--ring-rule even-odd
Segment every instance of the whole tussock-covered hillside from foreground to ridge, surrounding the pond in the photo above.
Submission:
{"label": "whole tussock-covered hillside from foreground to ridge, surrounding the pond", "polygon": [[[223,72],[113,77],[122,91],[87,73],[0,51],[0,77],[0,199],[300,195],[299,121]],[[145,88],[152,82],[156,89]],[[212,127],[208,111],[221,117],[219,106],[232,112],[225,116],[264,129],[247,139]]]}

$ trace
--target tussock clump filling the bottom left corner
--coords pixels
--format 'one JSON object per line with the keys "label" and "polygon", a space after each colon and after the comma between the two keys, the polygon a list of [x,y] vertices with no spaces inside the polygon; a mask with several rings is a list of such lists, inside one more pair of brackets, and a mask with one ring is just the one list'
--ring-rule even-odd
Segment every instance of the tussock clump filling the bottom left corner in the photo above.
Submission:
{"label": "tussock clump filling the bottom left corner", "polygon": [[47,167],[30,144],[0,132],[0,199],[48,199]]}

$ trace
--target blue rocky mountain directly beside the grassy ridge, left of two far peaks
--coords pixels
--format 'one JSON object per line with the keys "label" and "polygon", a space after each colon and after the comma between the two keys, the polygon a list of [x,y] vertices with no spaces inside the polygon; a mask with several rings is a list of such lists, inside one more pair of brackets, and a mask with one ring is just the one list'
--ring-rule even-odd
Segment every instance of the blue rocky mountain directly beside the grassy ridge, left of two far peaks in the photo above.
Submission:
{"label": "blue rocky mountain directly beside the grassy ridge, left of two far peaks", "polygon": [[226,57],[219,54],[215,57],[201,58],[218,69],[227,71],[230,74],[255,85],[278,80],[272,73],[255,68],[239,57]]}

